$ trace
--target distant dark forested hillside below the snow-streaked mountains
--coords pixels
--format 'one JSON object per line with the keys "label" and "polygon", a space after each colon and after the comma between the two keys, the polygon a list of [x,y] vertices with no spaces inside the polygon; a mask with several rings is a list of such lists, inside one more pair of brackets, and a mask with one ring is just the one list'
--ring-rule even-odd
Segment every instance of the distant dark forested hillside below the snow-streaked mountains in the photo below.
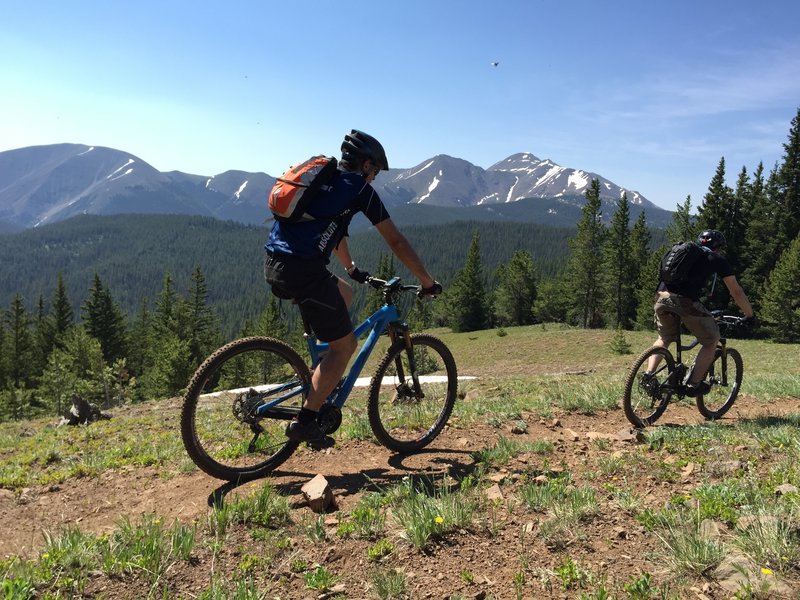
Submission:
{"label": "distant dark forested hillside below the snow-streaked mountains", "polygon": [[[571,230],[514,222],[460,221],[403,227],[430,271],[447,285],[463,266],[473,232],[481,231],[486,275],[517,249],[528,249],[540,272],[553,275],[563,266]],[[18,233],[0,235],[0,308],[17,293],[30,310],[40,295],[49,305],[59,272],[76,315],[95,272],[114,299],[135,314],[143,299],[152,301],[169,272],[184,293],[192,271],[206,277],[208,301],[225,331],[233,335],[245,318],[266,306],[263,244],[266,227],[182,215],[81,215]],[[388,248],[374,230],[352,231],[351,247],[359,264],[375,269]],[[402,270],[400,271],[402,273]]]}

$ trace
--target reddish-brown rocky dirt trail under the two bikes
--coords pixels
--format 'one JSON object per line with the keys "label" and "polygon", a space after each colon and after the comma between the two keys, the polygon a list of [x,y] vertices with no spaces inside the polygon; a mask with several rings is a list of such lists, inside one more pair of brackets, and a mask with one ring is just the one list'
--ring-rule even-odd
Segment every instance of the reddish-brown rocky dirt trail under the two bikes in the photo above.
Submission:
{"label": "reddish-brown rocky dirt trail under the two bikes", "polygon": [[[723,420],[753,418],[764,414],[780,415],[800,411],[800,400],[788,399],[779,406],[765,407],[752,398],[742,397]],[[558,424],[532,414],[524,415],[527,433],[520,439],[550,440],[556,451],[551,462],[563,463],[576,471],[608,451],[589,443],[587,433],[613,434],[628,428],[621,410],[594,416],[561,417]],[[701,422],[692,406],[670,406],[659,424]],[[574,434],[576,435],[573,435]],[[176,432],[177,435],[177,432]],[[500,436],[513,437],[507,429],[481,424],[468,430],[447,428],[433,447],[417,455],[400,458],[370,442],[337,444],[325,452],[301,449],[281,470],[270,477],[282,493],[292,495],[295,506],[302,504],[300,486],[317,473],[330,481],[338,507],[347,510],[361,493],[400,481],[420,472],[464,472],[471,468],[471,453],[497,442]],[[576,439],[577,438],[577,439]],[[644,485],[639,482],[636,485]],[[112,531],[124,517],[135,519],[155,513],[171,522],[190,522],[203,517],[215,496],[247,493],[260,482],[250,482],[230,489],[224,482],[199,471],[164,477],[153,468],[128,468],[110,471],[98,477],[71,479],[64,483],[34,487],[14,493],[0,490],[0,556],[30,556],[44,543],[42,532],[57,532],[63,527],[78,526],[83,531]],[[672,490],[664,490],[668,496]],[[653,493],[653,492],[650,492]]]}

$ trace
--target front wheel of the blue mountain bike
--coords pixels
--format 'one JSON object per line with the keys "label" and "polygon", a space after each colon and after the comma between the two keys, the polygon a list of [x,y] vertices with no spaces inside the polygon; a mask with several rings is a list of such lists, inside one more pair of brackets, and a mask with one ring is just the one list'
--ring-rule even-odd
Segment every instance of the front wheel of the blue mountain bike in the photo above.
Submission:
{"label": "front wheel of the blue mountain bike", "polygon": [[444,342],[412,334],[410,344],[409,349],[404,338],[391,345],[369,387],[369,424],[378,441],[395,452],[420,450],[439,435],[458,388],[456,362]]}

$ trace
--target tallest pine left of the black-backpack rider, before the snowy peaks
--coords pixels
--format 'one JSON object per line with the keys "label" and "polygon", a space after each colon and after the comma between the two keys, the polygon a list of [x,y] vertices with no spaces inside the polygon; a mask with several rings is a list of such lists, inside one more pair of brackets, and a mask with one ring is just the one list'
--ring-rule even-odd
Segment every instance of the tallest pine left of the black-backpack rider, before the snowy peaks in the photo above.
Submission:
{"label": "tallest pine left of the black-backpack rider, before the snowy peaks", "polygon": [[567,302],[571,321],[582,327],[600,327],[602,317],[602,248],[605,228],[601,222],[600,182],[593,179],[586,190],[577,232],[569,240]]}

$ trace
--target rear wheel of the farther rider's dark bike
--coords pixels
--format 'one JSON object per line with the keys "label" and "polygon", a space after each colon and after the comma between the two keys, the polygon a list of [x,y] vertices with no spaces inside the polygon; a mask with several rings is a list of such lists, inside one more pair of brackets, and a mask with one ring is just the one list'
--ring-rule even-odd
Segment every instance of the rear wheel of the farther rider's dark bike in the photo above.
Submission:
{"label": "rear wheel of the farther rider's dark bike", "polygon": [[[646,377],[647,363],[652,356],[660,356],[662,360],[652,376]],[[664,414],[677,383],[674,373],[675,359],[666,348],[650,348],[633,363],[625,381],[622,407],[634,427],[652,425]]]}

